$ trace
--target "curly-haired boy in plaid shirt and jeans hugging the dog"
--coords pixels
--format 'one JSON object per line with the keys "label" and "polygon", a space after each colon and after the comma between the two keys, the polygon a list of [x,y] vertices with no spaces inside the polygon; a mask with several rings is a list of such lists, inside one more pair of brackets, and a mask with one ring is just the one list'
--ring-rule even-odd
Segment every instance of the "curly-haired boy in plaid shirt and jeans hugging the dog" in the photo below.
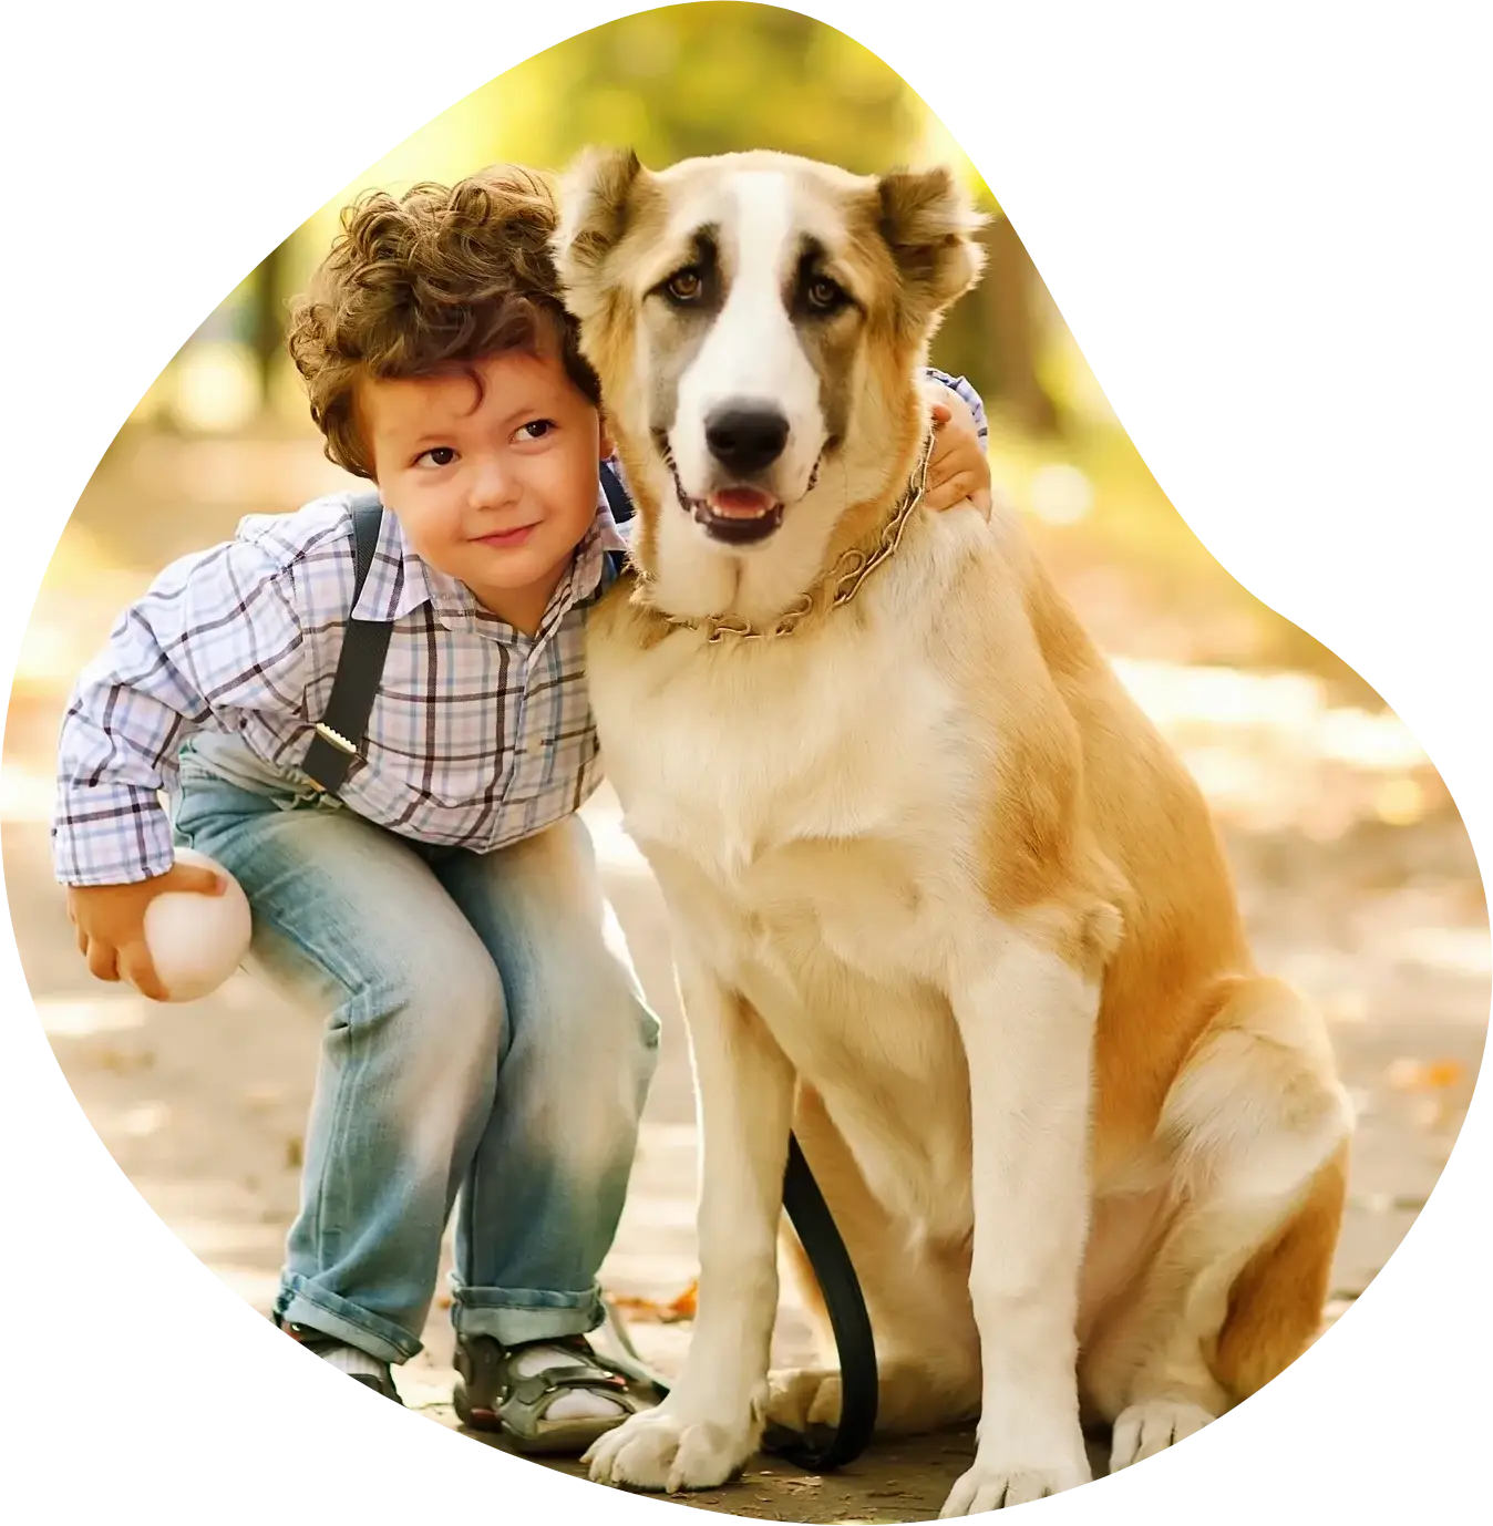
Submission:
{"label": "curly-haired boy in plaid shirt and jeans hugging the dog", "polygon": [[[658,1019],[576,815],[600,783],[585,612],[624,542],[554,221],[511,166],[348,214],[290,346],[328,458],[386,510],[363,592],[348,494],[168,568],[73,691],[53,858],[89,969],[159,998],[145,909],[218,893],[173,845],[211,855],[249,967],[325,1019],[281,1332],[397,1405],[460,1199],[458,1413],[580,1453],[647,1402],[586,1335]],[[975,427],[945,397],[928,505],[988,513],[983,407],[953,385]],[[327,794],[302,765],[350,618],[394,626]]]}

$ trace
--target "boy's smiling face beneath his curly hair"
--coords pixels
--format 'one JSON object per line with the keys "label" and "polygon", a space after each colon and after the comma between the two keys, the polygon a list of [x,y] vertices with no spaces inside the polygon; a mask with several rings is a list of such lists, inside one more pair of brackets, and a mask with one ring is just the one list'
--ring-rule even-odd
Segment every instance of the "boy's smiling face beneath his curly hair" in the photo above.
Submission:
{"label": "boy's smiling face beneath his curly hair", "polygon": [[365,380],[359,420],[385,504],[415,552],[533,633],[597,511],[611,453],[597,410],[548,331],[540,354],[463,371]]}

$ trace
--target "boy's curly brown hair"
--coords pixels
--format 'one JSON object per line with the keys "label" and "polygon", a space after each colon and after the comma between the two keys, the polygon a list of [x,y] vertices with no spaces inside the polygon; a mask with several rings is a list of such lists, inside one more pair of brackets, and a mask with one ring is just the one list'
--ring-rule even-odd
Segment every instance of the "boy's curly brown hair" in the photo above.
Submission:
{"label": "boy's curly brown hair", "polygon": [[559,298],[550,256],[557,218],[553,182],[521,165],[493,165],[453,186],[423,182],[397,200],[376,191],[342,214],[289,333],[328,461],[374,475],[354,406],[365,377],[470,372],[504,349],[537,353],[545,328],[571,382],[601,406],[601,383]]}

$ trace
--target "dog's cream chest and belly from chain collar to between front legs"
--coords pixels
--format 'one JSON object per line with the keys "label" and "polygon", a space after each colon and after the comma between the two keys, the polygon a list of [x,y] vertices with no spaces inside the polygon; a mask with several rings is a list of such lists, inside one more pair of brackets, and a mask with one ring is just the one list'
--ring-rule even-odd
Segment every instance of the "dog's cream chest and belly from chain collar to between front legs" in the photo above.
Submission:
{"label": "dog's cream chest and belly from chain collar to between front legs", "polygon": [[954,700],[875,645],[791,667],[667,656],[601,655],[592,682],[676,940],[762,1015],[872,1190],[959,1233],[968,1077],[940,963],[979,888],[960,879],[975,754]]}

